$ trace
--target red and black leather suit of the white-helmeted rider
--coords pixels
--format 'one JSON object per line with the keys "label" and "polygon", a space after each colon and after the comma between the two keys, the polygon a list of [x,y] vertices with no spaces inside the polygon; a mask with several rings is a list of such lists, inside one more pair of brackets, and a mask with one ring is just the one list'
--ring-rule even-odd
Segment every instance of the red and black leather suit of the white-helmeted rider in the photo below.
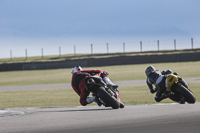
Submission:
{"label": "red and black leather suit of the white-helmeted rider", "polygon": [[86,101],[89,91],[86,90],[85,79],[88,76],[99,76],[107,77],[107,72],[102,70],[91,70],[91,69],[82,69],[81,71],[75,72],[72,75],[71,86],[74,91],[80,96],[80,104],[86,106],[88,102]]}

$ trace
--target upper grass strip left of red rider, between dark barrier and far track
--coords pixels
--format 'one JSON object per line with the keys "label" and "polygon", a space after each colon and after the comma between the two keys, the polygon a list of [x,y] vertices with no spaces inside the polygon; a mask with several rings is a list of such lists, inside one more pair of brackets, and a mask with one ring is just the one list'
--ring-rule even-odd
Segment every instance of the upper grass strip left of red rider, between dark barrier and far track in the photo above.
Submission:
{"label": "upper grass strip left of red rider, between dark barrier and far track", "polygon": [[0,72],[0,86],[69,83],[70,69]]}

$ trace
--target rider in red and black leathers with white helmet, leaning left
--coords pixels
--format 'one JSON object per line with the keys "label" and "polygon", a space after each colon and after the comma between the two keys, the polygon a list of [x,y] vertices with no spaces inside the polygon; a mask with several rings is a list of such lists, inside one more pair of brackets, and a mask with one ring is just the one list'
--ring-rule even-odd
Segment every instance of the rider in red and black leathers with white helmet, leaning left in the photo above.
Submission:
{"label": "rider in red and black leathers with white helmet, leaning left", "polygon": [[90,94],[89,91],[86,89],[85,79],[88,76],[99,76],[102,77],[103,81],[106,83],[107,86],[113,86],[115,88],[118,85],[112,83],[112,81],[108,77],[108,73],[106,71],[102,71],[99,69],[92,70],[92,69],[82,69],[80,66],[75,66],[72,68],[72,80],[71,86],[74,91],[80,96],[80,104],[82,106],[86,106],[92,102],[96,102],[99,106],[102,105],[101,101],[96,97],[88,97]]}

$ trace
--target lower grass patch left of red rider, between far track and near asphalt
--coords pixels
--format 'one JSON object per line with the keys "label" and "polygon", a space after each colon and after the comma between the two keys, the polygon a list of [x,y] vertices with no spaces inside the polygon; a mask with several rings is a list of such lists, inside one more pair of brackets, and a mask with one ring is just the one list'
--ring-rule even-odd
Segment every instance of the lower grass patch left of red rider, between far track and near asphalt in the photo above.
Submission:
{"label": "lower grass patch left of red rider, between far track and near asphalt", "polygon": [[6,91],[0,93],[0,101],[0,108],[79,105],[71,89]]}

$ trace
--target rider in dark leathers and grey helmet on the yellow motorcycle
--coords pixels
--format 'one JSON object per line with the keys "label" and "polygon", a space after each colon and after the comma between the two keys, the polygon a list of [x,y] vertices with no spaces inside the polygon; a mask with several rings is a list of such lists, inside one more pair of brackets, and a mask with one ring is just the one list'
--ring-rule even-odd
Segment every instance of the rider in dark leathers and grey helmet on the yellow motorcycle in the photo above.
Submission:
{"label": "rider in dark leathers and grey helmet on the yellow motorcycle", "polygon": [[[165,82],[166,82],[166,75],[172,74],[172,71],[170,69],[166,71],[160,71],[156,70],[153,66],[148,66],[145,70],[146,76],[147,76],[147,85],[149,87],[150,92],[153,94],[156,92],[155,95],[155,101],[160,102],[165,98],[170,98],[173,101],[181,103],[182,101],[179,101],[176,94],[172,93],[165,93]],[[176,72],[173,73],[174,75],[178,75]],[[179,78],[179,80],[184,84],[184,86],[187,86],[186,82],[182,80],[182,78]],[[153,88],[153,85],[156,87]]]}

